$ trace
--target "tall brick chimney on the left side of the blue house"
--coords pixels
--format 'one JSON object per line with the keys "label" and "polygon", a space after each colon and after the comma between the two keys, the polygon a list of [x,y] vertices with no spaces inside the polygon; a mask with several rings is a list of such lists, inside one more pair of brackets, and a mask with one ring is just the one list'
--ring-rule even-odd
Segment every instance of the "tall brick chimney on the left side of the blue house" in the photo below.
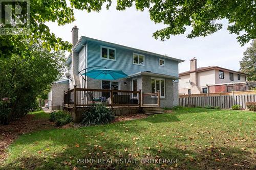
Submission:
{"label": "tall brick chimney on the left side of the blue house", "polygon": [[[75,47],[76,43],[78,42],[78,28],[76,26],[74,26],[71,30],[72,32],[72,44],[73,44],[73,48]],[[76,85],[76,87],[81,87],[80,86],[80,81],[79,81],[79,77],[78,77],[78,53],[74,52],[72,50],[72,55],[71,55],[71,70],[72,70],[72,86],[70,88],[73,88],[74,85]]]}

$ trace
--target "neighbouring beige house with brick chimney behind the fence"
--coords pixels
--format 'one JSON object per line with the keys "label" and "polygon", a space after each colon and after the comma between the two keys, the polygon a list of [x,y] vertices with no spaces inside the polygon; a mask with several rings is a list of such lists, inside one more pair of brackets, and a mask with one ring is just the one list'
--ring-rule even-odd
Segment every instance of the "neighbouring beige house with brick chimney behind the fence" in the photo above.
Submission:
{"label": "neighbouring beige house with brick chimney behind the fence", "polygon": [[218,66],[197,68],[190,60],[190,70],[179,74],[179,94],[198,94],[248,90],[246,74]]}

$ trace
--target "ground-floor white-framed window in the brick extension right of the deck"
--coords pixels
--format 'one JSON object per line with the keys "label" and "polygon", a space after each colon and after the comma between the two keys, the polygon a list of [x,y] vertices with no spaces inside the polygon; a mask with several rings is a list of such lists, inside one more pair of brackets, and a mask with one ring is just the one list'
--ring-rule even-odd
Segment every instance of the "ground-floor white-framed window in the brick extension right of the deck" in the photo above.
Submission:
{"label": "ground-floor white-framed window in the brick extension right of the deck", "polygon": [[165,97],[165,80],[159,78],[151,78],[151,92],[160,91],[160,98]]}

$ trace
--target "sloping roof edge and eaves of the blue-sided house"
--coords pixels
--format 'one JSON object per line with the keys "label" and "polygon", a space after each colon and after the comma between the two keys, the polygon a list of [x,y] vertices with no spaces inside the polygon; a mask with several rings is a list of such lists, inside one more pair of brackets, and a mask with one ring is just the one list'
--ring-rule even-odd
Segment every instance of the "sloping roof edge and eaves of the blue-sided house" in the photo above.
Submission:
{"label": "sloping roof edge and eaves of the blue-sided house", "polygon": [[[100,42],[100,43],[104,43],[104,44],[108,44],[108,45],[112,45],[112,46],[116,46],[116,47],[120,47],[120,48],[125,48],[125,49],[132,50],[132,51],[135,51],[135,52],[140,52],[140,53],[144,53],[144,54],[148,54],[148,55],[153,55],[153,56],[157,56],[157,57],[162,57],[162,58],[178,61],[178,63],[181,63],[181,62],[185,61],[185,60],[169,57],[169,56],[166,56],[166,55],[161,55],[161,54],[157,54],[157,53],[153,53],[153,52],[139,50],[138,48],[133,48],[133,47],[120,45],[120,44],[107,42],[107,41],[102,41],[102,40],[99,40],[99,39],[94,39],[94,38],[85,37],[85,36],[80,37],[80,39],[78,40],[78,42],[74,46],[73,51],[78,52],[83,47],[83,45],[87,43],[87,41]],[[67,58],[66,61],[68,61],[69,58],[70,58],[70,56]]]}

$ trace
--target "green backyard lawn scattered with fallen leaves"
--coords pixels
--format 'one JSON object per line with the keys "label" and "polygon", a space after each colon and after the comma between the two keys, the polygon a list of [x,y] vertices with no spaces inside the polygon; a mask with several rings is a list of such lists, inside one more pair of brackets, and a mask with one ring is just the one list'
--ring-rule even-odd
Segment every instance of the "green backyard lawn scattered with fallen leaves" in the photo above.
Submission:
{"label": "green backyard lawn scattered with fallen leaves", "polygon": [[[255,119],[249,111],[183,108],[104,126],[38,131],[10,145],[2,168],[254,169]],[[113,163],[77,163],[82,158]],[[179,162],[117,164],[120,158]]]}

